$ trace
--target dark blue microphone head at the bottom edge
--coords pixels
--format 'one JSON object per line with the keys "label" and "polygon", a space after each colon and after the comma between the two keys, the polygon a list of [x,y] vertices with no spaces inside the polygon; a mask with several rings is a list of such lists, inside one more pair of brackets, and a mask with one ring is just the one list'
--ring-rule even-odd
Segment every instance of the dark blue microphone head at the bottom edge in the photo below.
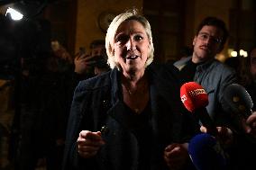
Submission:
{"label": "dark blue microphone head at the bottom edge", "polygon": [[188,154],[197,170],[224,170],[226,158],[215,137],[202,133],[189,141]]}

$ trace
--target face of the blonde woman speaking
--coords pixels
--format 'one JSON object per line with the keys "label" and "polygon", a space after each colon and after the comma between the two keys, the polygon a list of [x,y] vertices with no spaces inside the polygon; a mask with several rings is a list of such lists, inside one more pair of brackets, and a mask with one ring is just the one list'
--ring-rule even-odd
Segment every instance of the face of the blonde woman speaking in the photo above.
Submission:
{"label": "face of the blonde woman speaking", "polygon": [[141,22],[123,22],[114,36],[114,60],[124,74],[140,73],[150,53],[150,40]]}

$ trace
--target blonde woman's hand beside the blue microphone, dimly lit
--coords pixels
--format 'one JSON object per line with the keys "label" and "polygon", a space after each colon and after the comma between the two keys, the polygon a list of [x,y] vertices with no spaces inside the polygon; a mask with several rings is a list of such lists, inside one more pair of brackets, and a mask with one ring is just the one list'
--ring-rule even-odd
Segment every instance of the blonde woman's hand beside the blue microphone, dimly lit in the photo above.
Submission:
{"label": "blonde woman's hand beside the blue microphone, dimly lit", "polygon": [[187,143],[174,143],[165,148],[163,157],[167,163],[167,166],[169,166],[169,169],[179,170],[182,169],[184,165],[186,165],[186,162],[189,158],[187,153],[187,146]]}

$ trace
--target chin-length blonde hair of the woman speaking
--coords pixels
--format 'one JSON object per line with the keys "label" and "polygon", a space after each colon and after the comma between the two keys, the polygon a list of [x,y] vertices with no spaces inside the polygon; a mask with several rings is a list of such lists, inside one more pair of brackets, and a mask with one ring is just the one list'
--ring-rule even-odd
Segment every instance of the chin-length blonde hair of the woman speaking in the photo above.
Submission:
{"label": "chin-length blonde hair of the woman speaking", "polygon": [[107,54],[107,63],[109,66],[113,69],[114,67],[117,67],[119,70],[121,69],[119,63],[116,63],[114,61],[114,36],[116,34],[116,31],[118,27],[126,21],[129,20],[135,20],[137,22],[142,23],[143,27],[145,28],[145,31],[147,33],[148,39],[150,40],[150,52],[145,64],[145,67],[148,67],[154,58],[154,46],[152,41],[152,34],[151,34],[151,24],[148,22],[148,20],[143,17],[142,15],[138,14],[138,11],[136,9],[129,10],[125,13],[121,13],[114,17],[114,20],[110,23],[106,35],[105,35],[105,49]]}

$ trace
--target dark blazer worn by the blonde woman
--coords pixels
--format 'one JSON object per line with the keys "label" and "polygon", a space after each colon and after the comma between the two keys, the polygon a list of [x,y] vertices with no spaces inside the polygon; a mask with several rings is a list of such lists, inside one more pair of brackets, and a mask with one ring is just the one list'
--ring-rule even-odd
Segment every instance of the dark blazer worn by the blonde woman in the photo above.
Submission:
{"label": "dark blazer worn by the blonde woman", "polygon": [[[151,169],[168,169],[163,160],[164,148],[172,142],[187,142],[198,127],[180,101],[176,68],[152,65],[146,73],[151,89]],[[138,141],[133,134],[133,122],[125,114],[120,76],[113,69],[78,84],[69,115],[63,170],[137,169]],[[79,157],[79,132],[102,127],[105,145],[96,157]]]}

